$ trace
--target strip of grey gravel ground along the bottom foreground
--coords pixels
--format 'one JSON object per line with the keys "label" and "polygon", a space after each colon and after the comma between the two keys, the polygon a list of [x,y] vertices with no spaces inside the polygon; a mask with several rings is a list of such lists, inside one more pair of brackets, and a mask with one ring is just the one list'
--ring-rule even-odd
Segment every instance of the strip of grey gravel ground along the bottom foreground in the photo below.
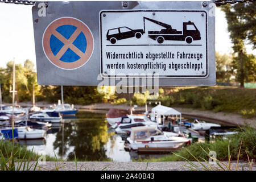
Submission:
{"label": "strip of grey gravel ground along the bottom foreground", "polygon": [[[200,166],[199,163],[193,162]],[[146,162],[77,162],[77,170],[79,171],[101,171],[102,169],[106,171],[186,171],[189,168],[184,167],[188,165],[186,162],[148,162],[148,167]],[[46,162],[46,164],[41,165],[45,169],[55,169],[55,162]],[[57,166],[60,171],[75,171],[75,162],[57,162]],[[188,165],[189,166],[189,165]],[[241,166],[241,164],[240,164]],[[236,163],[232,163],[233,169],[236,168]],[[245,167],[245,170],[248,170]],[[256,170],[256,166],[253,166],[253,170]]]}

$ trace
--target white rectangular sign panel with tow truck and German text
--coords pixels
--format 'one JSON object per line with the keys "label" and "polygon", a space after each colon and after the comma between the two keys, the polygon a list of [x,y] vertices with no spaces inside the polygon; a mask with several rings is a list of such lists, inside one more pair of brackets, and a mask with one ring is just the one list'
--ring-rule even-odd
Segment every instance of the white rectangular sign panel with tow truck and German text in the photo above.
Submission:
{"label": "white rectangular sign panel with tow truck and German text", "polygon": [[102,76],[208,77],[204,10],[102,10]]}

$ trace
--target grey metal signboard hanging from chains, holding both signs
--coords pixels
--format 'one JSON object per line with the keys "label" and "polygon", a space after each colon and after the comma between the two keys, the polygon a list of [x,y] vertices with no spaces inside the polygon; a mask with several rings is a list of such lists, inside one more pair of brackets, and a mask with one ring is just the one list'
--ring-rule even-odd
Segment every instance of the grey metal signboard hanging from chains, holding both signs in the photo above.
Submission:
{"label": "grey metal signboard hanging from chains, holding both signs", "polygon": [[36,2],[38,83],[136,78],[139,86],[154,77],[159,86],[215,85],[214,8],[198,1]]}

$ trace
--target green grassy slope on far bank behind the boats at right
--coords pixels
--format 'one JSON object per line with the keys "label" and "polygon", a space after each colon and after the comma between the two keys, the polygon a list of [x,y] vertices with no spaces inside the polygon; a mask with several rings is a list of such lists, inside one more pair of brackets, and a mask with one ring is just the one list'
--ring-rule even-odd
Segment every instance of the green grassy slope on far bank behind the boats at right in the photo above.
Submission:
{"label": "green grassy slope on far bank behind the boats at right", "polygon": [[[168,88],[164,89],[165,92],[168,91]],[[241,113],[245,117],[255,116],[253,111],[256,108],[255,88],[228,86],[180,88],[179,92],[171,93],[169,96],[173,98],[173,104],[164,104],[166,106],[234,112]]]}

